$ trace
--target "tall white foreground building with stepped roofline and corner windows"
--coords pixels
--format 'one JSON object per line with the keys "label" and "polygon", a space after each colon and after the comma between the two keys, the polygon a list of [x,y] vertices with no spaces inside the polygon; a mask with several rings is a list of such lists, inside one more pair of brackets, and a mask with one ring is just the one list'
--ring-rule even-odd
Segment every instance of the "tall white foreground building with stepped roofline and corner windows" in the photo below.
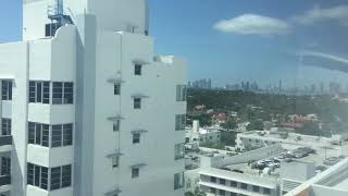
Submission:
{"label": "tall white foreground building with stepped roofline and corner windows", "polygon": [[186,65],[154,58],[145,0],[23,8],[0,45],[0,195],[184,195]]}

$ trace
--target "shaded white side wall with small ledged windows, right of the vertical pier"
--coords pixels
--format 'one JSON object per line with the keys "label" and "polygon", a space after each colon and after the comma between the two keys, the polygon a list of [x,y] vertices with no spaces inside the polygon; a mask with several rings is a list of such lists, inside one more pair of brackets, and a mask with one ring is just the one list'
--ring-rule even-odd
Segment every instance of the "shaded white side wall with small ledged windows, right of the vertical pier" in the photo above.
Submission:
{"label": "shaded white side wall with small ledged windows, right of the vertical pier", "polygon": [[[144,65],[141,76],[134,75],[134,60],[149,62]],[[184,159],[174,160],[174,145],[184,143],[185,132],[175,132],[174,127],[175,114],[186,113],[186,102],[175,100],[176,84],[186,84],[184,63],[153,62],[150,37],[99,32],[97,68],[95,128],[103,134],[95,132],[94,195],[117,186],[130,196],[183,195],[184,191],[174,192],[174,174],[184,172]],[[121,96],[113,95],[113,84],[108,83],[109,78],[122,78]],[[147,97],[141,99],[140,110],[133,109],[132,96],[136,94]],[[121,132],[113,133],[112,122],[107,119],[117,114],[124,119]],[[148,132],[141,134],[140,144],[134,145],[130,132],[138,128]],[[173,142],[163,138],[172,138]],[[123,156],[120,167],[112,169],[107,155],[116,149]],[[137,163],[147,166],[140,168],[138,179],[132,179],[130,166]]]}

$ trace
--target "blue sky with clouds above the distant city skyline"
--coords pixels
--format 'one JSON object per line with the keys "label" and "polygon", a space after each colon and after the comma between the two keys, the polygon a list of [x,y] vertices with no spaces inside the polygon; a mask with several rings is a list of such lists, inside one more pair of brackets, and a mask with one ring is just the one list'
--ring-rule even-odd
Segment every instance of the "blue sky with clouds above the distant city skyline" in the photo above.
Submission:
{"label": "blue sky with clouds above the distant city skyline", "polygon": [[[156,51],[186,59],[189,78],[215,85],[345,81],[304,64],[348,64],[346,0],[149,0]],[[21,39],[22,1],[1,0],[0,42]],[[312,54],[300,61],[298,53]],[[323,62],[324,60],[324,62]],[[318,64],[316,64],[318,63]]]}

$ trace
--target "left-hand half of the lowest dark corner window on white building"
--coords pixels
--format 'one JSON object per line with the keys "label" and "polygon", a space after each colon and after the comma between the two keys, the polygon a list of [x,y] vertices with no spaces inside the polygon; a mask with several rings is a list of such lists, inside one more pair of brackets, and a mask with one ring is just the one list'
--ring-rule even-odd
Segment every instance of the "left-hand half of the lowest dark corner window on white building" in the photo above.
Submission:
{"label": "left-hand half of the lowest dark corner window on white building", "polygon": [[48,189],[48,168],[28,163],[27,184]]}

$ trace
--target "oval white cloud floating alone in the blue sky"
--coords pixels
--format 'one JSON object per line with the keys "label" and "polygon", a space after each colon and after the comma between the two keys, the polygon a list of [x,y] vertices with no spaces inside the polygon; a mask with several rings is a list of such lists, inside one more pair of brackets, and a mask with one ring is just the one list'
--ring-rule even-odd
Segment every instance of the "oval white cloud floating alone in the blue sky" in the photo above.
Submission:
{"label": "oval white cloud floating alone in the blue sky", "polygon": [[290,26],[286,22],[256,14],[244,14],[220,21],[214,25],[214,28],[243,35],[282,35],[290,32]]}

